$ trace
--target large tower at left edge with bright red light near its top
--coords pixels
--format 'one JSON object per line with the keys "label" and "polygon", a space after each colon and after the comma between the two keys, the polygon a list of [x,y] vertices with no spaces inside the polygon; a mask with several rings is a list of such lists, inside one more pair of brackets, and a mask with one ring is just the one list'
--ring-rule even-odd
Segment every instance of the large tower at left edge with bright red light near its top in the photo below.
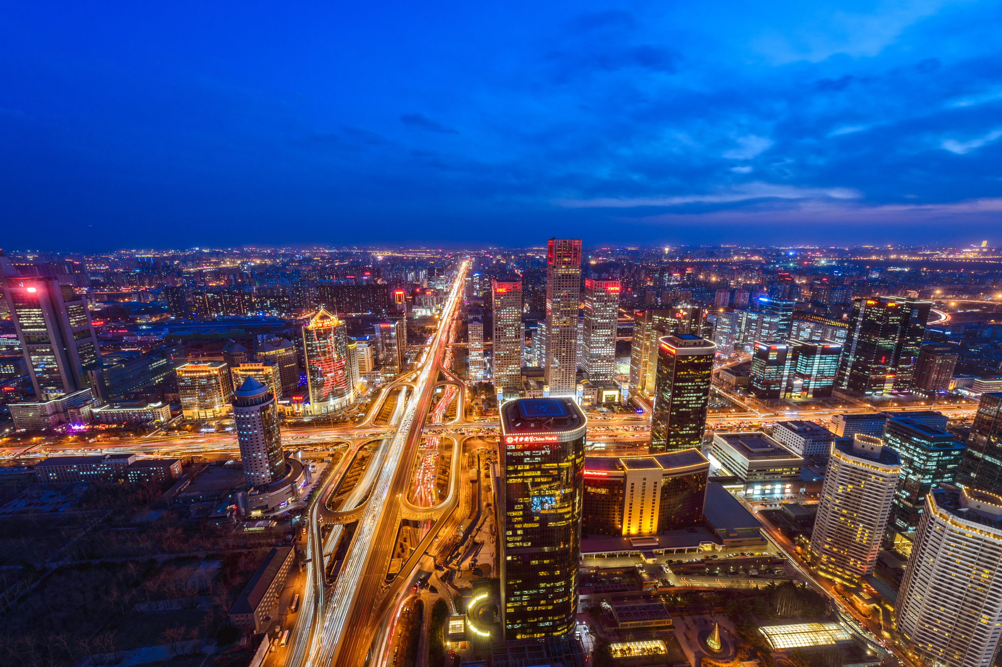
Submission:
{"label": "large tower at left edge with bright red light near its top", "polygon": [[87,372],[100,366],[100,348],[83,295],[43,276],[8,275],[3,290],[37,400],[87,389]]}

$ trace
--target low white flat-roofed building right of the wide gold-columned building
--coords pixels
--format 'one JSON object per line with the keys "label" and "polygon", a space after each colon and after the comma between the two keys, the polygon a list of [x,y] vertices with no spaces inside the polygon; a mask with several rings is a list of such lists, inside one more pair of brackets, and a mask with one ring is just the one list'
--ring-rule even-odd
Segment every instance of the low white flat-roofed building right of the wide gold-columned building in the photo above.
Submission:
{"label": "low white flat-roofed building right of the wide gold-columned building", "polygon": [[762,432],[714,434],[710,453],[746,495],[784,496],[800,489],[804,457]]}

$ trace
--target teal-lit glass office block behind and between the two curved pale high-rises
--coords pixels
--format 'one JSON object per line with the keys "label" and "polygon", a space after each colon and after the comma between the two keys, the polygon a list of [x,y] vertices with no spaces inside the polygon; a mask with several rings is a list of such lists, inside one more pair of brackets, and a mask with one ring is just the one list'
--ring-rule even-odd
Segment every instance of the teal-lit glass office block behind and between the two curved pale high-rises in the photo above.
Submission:
{"label": "teal-lit glass office block behind and between the two curved pale high-rises", "polygon": [[889,527],[911,536],[919,527],[926,494],[940,484],[954,483],[964,446],[952,433],[907,417],[887,421],[884,444],[901,458],[901,478]]}

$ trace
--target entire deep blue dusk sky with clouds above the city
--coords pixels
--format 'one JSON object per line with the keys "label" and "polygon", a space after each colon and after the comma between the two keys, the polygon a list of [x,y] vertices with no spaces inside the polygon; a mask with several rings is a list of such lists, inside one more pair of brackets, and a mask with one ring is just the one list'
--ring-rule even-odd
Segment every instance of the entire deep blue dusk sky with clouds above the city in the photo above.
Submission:
{"label": "entire deep blue dusk sky with clouds above the city", "polygon": [[1002,243],[1002,3],[8,2],[0,245]]}

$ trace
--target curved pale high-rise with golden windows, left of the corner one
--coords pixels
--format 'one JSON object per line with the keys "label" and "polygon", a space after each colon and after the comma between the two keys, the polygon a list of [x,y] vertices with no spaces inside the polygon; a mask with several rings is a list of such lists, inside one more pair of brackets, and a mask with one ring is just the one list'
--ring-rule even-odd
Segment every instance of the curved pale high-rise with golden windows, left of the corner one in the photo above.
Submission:
{"label": "curved pale high-rise with golden windows, left of the corner one", "polygon": [[900,476],[898,454],[880,438],[832,444],[811,535],[820,574],[850,585],[873,574]]}

